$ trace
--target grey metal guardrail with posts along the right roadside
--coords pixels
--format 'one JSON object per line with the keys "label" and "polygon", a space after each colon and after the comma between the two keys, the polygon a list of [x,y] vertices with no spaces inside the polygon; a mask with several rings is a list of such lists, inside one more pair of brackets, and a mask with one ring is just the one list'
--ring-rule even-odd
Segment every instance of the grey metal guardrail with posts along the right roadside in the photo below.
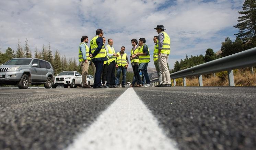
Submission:
{"label": "grey metal guardrail with posts along the right roadside", "polygon": [[[228,71],[229,86],[235,86],[233,69],[253,66],[256,66],[256,47],[171,73],[170,76],[173,79],[174,86],[176,86],[175,79],[177,78],[183,78],[183,86],[186,86],[186,77],[191,76],[198,76],[199,86],[203,86],[202,74]],[[253,68],[252,73],[254,74]],[[151,84],[158,84],[158,78],[151,80]]]}

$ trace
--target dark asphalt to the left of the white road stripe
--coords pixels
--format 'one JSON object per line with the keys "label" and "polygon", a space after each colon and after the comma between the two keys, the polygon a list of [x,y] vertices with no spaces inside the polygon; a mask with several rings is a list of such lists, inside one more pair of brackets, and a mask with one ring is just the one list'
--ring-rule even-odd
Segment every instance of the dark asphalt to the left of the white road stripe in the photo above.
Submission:
{"label": "dark asphalt to the left of the white road stripe", "polygon": [[61,150],[127,88],[0,91],[1,150]]}

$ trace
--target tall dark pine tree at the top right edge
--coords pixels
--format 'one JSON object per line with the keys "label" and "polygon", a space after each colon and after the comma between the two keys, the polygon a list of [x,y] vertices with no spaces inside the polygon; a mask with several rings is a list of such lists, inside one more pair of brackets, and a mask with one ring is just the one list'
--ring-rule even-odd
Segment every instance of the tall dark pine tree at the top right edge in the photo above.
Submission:
{"label": "tall dark pine tree at the top right edge", "polygon": [[238,16],[238,24],[234,27],[239,31],[235,35],[246,43],[252,38],[256,38],[256,1],[245,0],[243,11],[238,12],[243,16]]}

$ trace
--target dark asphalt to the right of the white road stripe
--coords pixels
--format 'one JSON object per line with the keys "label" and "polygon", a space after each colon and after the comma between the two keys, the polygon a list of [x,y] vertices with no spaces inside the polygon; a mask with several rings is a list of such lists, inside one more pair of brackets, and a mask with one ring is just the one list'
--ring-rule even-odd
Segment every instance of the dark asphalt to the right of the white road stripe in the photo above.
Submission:
{"label": "dark asphalt to the right of the white road stripe", "polygon": [[180,150],[256,149],[256,87],[135,91]]}

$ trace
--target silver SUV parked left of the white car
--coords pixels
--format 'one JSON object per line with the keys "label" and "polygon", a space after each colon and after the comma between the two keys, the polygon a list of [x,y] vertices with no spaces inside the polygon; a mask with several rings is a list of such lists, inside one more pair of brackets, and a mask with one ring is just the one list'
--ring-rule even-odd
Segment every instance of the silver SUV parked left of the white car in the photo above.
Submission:
{"label": "silver SUV parked left of the white car", "polygon": [[51,88],[54,79],[53,67],[42,59],[13,58],[0,66],[0,85],[18,85],[26,89],[31,83]]}

